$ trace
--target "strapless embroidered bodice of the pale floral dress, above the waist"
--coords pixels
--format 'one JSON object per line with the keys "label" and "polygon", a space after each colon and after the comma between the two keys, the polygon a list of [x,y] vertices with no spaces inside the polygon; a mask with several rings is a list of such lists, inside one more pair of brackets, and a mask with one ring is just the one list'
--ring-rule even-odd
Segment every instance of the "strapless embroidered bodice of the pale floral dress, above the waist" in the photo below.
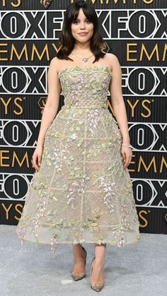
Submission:
{"label": "strapless embroidered bodice of the pale floral dress, above the waist", "polygon": [[59,72],[65,107],[106,107],[112,72],[106,66],[70,66]]}

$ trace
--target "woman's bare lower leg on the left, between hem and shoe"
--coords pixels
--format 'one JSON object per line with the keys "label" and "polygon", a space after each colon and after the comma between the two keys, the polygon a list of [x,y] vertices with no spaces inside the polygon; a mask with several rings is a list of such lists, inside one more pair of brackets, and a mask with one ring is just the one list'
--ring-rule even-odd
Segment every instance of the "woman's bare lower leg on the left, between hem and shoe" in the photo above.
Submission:
{"label": "woman's bare lower leg on the left, between hem and shoe", "polygon": [[85,263],[84,263],[84,250],[82,249],[81,244],[73,244],[73,254],[74,254],[74,266],[73,271],[85,272]]}

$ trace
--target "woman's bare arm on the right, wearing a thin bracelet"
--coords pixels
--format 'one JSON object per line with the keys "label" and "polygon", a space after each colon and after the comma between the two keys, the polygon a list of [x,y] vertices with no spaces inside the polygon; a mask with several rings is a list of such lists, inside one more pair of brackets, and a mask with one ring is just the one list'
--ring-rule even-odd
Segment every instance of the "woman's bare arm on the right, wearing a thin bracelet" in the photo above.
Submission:
{"label": "woman's bare arm on the right, wearing a thin bracelet", "polygon": [[[112,64],[112,76],[110,80],[110,95],[111,95],[111,105],[113,107],[113,112],[117,119],[117,124],[120,128],[122,134],[122,144],[125,146],[130,145],[129,131],[127,124],[127,111],[125,108],[125,102],[122,96],[122,70],[117,57],[112,54],[112,59],[110,59],[110,64]],[[124,168],[129,165],[132,158],[131,148],[121,146],[121,155],[125,162]]]}

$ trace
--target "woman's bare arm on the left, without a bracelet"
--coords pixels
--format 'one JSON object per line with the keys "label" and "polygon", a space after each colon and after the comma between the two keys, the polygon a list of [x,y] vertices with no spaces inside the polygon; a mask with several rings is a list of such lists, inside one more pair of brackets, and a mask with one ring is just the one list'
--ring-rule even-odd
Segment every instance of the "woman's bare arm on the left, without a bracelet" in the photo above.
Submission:
{"label": "woman's bare arm on the left, without a bracelet", "polygon": [[40,170],[40,162],[42,159],[43,142],[45,134],[50,124],[52,124],[59,107],[59,95],[61,93],[61,85],[57,75],[57,58],[54,57],[50,61],[50,67],[47,73],[48,95],[45,108],[43,109],[42,119],[40,123],[40,132],[38,135],[37,147],[33,153],[33,165],[35,170]]}

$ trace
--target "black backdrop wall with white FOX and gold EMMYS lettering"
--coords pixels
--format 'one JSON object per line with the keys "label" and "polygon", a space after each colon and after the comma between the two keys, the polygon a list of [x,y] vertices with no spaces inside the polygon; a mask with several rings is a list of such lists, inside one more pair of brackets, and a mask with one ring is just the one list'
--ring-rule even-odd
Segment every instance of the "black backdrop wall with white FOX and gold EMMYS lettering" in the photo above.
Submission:
{"label": "black backdrop wall with white FOX and gold EMMYS lettering", "polygon": [[[71,0],[0,0],[0,223],[17,225],[35,172],[47,71]],[[140,232],[167,234],[167,1],[92,0],[122,68]],[[113,114],[110,94],[108,109]],[[64,104],[60,97],[59,109]],[[114,116],[114,114],[113,114]]]}

